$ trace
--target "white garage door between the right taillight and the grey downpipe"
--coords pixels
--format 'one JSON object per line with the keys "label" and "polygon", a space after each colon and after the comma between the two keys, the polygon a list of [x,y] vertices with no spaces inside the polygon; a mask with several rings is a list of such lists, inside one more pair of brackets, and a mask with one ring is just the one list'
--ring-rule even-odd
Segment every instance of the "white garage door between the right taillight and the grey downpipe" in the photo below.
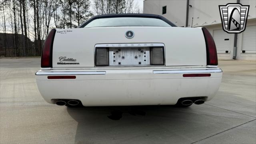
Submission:
{"label": "white garage door between the right taillight and the grey downpipe", "polygon": [[230,36],[231,34],[224,32],[222,29],[213,30],[213,39],[216,44],[217,52],[230,52]]}

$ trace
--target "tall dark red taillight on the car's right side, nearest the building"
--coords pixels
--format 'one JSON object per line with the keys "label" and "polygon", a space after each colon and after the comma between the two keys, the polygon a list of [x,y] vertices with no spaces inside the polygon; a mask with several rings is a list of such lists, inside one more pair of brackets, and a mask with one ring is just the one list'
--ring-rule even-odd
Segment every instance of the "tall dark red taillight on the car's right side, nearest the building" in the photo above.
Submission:
{"label": "tall dark red taillight on the car's right side, nearest the building", "polygon": [[206,43],[207,65],[217,66],[218,56],[212,35],[206,28],[202,28],[202,30],[204,33],[204,39]]}

